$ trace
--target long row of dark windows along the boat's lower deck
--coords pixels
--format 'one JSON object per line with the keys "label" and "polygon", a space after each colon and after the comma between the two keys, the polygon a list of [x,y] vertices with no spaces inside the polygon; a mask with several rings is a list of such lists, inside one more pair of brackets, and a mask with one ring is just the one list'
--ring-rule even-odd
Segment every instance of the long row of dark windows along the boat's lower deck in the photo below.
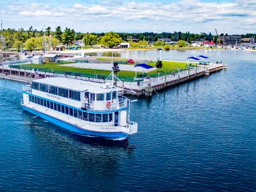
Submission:
{"label": "long row of dark windows along the boat's lower deck", "polygon": [[[69,108],[67,106],[63,106],[56,102],[51,102],[49,100],[38,98],[32,95],[29,95],[29,102],[33,102],[40,106],[44,106],[46,108],[53,109],[55,111],[59,111],[61,113],[65,113],[67,115],[74,116],[76,118],[83,119],[89,122],[112,122],[113,121],[113,113],[104,113],[104,114],[88,113],[88,112],[80,111],[74,108]],[[118,118],[116,115],[117,114],[115,114],[115,118]]]}

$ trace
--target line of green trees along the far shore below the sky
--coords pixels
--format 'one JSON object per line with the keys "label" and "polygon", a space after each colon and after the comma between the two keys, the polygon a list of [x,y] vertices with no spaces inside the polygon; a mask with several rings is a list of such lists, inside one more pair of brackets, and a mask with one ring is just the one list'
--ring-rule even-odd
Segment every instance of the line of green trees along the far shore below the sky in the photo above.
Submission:
{"label": "line of green trees along the far shore below the sky", "polygon": [[[221,33],[221,35],[223,35],[223,33]],[[4,49],[16,49],[17,51],[20,51],[20,49],[26,49],[28,51],[43,49],[44,42],[47,42],[47,45],[51,45],[51,47],[61,44],[70,47],[74,42],[81,39],[83,39],[84,45],[92,46],[100,44],[110,48],[116,47],[116,45],[123,41],[128,42],[131,39],[138,40],[138,43],[136,44],[131,42],[132,47],[145,46],[148,42],[162,45],[163,42],[159,41],[161,38],[168,38],[175,42],[179,42],[179,40],[189,43],[196,40],[213,40],[214,42],[217,42],[216,35],[212,35],[211,33],[194,34],[189,33],[189,31],[186,33],[182,33],[181,31],[175,31],[174,33],[76,33],[74,29],[70,28],[65,28],[61,31],[60,26],[54,30],[51,30],[51,27],[48,27],[45,31],[38,31],[37,29],[33,29],[32,26],[27,31],[23,28],[20,28],[17,31],[8,28],[3,29],[3,36]],[[248,33],[242,35],[242,38],[250,38],[253,36],[256,37],[256,34]]]}

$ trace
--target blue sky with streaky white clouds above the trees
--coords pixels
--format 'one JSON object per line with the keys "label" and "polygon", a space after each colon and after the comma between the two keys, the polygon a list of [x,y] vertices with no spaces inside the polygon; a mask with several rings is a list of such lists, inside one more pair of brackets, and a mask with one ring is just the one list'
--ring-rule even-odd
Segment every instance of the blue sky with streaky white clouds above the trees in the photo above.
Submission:
{"label": "blue sky with streaky white clouds above the trees", "polygon": [[256,33],[256,0],[0,0],[3,28]]}

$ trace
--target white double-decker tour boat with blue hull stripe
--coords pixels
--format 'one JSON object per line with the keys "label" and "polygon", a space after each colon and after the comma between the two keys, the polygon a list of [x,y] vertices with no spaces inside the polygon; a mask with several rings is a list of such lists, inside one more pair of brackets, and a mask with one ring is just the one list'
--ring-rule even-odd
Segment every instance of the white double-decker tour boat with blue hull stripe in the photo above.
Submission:
{"label": "white double-decker tour boat with blue hull stripe", "polygon": [[51,77],[23,86],[21,104],[26,111],[79,134],[126,138],[137,132],[138,124],[129,120],[131,101],[119,96],[120,91],[113,81],[110,85]]}

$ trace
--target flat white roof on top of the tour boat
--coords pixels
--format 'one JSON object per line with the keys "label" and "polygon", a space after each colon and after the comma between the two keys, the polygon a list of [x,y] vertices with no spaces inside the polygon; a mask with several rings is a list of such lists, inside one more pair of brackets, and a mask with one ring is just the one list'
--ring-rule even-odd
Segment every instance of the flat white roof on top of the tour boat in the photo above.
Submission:
{"label": "flat white roof on top of the tour boat", "polygon": [[[52,86],[58,86],[66,88],[68,90],[74,90],[78,92],[91,92],[91,93],[108,93],[111,91],[111,87],[106,88],[102,83],[95,83],[92,81],[84,81],[80,79],[70,79],[67,77],[50,77],[44,79],[36,79],[33,82],[49,84]],[[112,91],[120,91],[122,88],[113,87]]]}

